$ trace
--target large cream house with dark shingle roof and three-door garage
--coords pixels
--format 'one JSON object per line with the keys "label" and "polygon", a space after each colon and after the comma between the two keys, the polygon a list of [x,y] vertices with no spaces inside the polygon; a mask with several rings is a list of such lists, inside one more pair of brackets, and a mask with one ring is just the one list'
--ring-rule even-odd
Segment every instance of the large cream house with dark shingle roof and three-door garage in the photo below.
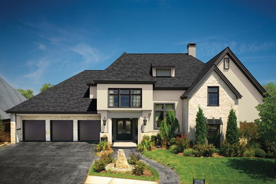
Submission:
{"label": "large cream house with dark shingle roof and three-door garage", "polygon": [[176,111],[180,132],[195,139],[200,106],[209,144],[225,136],[231,108],[238,121],[258,118],[265,90],[226,47],[204,63],[196,45],[187,54],[123,53],[104,70],[82,71],[38,94],[11,113],[11,141],[141,142],[159,132],[166,110]]}

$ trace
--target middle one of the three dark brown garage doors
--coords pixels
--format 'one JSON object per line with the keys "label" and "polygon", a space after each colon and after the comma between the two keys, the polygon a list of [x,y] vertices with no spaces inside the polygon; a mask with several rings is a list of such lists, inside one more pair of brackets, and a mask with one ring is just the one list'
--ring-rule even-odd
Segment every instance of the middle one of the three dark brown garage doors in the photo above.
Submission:
{"label": "middle one of the three dark brown garage doors", "polygon": [[61,142],[73,141],[73,121],[72,120],[52,120],[51,140]]}

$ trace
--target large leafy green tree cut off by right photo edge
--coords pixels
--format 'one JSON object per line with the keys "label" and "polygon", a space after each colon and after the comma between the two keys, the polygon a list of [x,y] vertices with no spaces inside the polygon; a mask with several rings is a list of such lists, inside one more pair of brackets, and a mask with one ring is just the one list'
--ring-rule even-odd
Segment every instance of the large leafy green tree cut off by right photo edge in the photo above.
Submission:
{"label": "large leafy green tree cut off by right photo edge", "polygon": [[256,121],[260,130],[260,138],[264,142],[276,142],[276,83],[263,86],[267,91],[263,104],[257,105],[260,120]]}

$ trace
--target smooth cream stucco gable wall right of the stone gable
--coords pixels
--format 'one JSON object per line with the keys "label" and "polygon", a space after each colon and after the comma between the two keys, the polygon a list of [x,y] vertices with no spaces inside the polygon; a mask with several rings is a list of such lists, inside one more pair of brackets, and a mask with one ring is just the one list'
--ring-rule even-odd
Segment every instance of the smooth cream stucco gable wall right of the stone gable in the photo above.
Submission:
{"label": "smooth cream stucco gable wall right of the stone gable", "polygon": [[[225,57],[228,56],[226,55]],[[259,118],[258,110],[256,110],[255,106],[263,103],[263,96],[261,96],[253,84],[244,76],[241,70],[238,69],[236,64],[231,59],[229,60],[229,69],[224,69],[224,59],[219,62],[217,67],[243,96],[238,100],[238,121],[253,122]]]}

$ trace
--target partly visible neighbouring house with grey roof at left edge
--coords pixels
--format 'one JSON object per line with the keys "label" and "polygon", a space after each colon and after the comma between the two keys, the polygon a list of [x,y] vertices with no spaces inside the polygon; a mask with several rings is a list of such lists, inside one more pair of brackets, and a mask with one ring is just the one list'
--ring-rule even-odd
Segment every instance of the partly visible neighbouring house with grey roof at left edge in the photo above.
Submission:
{"label": "partly visible neighbouring house with grey roof at left edge", "polygon": [[1,141],[10,142],[11,141],[11,114],[6,113],[5,110],[12,108],[19,103],[25,101],[26,98],[21,95],[16,89],[11,87],[4,79],[0,77],[0,117],[4,122],[4,130],[0,134],[4,134]]}

